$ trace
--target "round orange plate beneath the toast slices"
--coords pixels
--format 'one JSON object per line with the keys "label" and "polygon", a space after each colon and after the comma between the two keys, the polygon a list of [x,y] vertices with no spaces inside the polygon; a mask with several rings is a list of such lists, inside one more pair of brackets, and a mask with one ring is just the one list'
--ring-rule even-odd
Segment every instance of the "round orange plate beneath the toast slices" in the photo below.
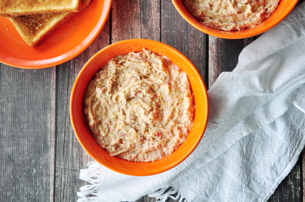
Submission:
{"label": "round orange plate beneath the toast slices", "polygon": [[38,69],[66,62],[84,51],[106,23],[112,0],[92,0],[36,47],[20,37],[12,23],[0,17],[0,62],[14,67]]}

